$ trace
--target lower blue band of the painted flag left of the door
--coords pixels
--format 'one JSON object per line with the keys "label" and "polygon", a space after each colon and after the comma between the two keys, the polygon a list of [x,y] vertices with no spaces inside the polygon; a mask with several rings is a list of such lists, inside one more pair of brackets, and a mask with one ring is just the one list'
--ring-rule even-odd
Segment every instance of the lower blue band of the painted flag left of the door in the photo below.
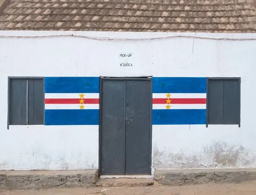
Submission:
{"label": "lower blue band of the painted flag left of the door", "polygon": [[99,110],[45,110],[45,125],[98,125]]}

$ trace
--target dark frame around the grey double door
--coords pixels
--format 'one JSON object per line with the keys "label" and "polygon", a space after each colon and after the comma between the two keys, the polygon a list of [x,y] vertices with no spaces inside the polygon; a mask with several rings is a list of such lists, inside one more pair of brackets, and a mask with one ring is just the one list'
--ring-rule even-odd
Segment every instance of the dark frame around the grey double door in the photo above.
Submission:
{"label": "dark frame around the grey double door", "polygon": [[[152,98],[153,98],[153,84],[152,76],[150,77],[99,77],[99,131],[98,131],[98,177],[101,175],[101,131],[102,131],[102,82],[103,80],[149,80],[150,82],[150,128],[149,128],[149,172],[152,175]],[[125,176],[125,175],[124,175]]]}

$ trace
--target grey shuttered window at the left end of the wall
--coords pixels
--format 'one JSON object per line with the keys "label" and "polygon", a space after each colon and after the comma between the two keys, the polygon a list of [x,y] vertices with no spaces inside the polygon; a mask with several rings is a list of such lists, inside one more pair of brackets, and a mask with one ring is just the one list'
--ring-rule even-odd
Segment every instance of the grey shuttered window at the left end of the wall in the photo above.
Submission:
{"label": "grey shuttered window at the left end of the wall", "polygon": [[43,124],[42,78],[9,78],[8,125]]}

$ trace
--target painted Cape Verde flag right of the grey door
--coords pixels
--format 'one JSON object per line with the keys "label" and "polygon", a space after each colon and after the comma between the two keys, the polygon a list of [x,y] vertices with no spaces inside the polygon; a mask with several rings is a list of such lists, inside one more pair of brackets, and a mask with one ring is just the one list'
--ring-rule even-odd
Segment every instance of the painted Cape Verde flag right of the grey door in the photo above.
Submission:
{"label": "painted Cape Verde flag right of the grey door", "polygon": [[153,125],[206,124],[207,78],[153,77]]}

